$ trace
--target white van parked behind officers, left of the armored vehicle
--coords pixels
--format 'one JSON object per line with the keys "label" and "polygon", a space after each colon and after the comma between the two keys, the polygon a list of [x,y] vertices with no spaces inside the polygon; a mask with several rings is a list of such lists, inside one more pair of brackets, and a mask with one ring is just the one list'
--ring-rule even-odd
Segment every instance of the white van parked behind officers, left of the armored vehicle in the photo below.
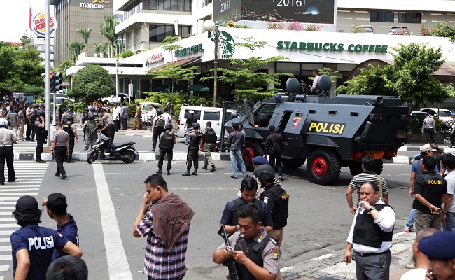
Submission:
{"label": "white van parked behind officers, left of the armored vehicle", "polygon": [[[216,135],[220,137],[221,127],[221,118],[223,116],[223,108],[214,108],[214,107],[201,107],[201,106],[181,106],[179,114],[179,122],[177,128],[177,137],[185,137],[185,123],[186,118],[190,116],[190,111],[195,111],[195,117],[197,118],[197,123],[201,125],[201,130],[204,130],[205,124],[208,121],[211,121],[211,128],[216,132]],[[225,121],[232,120],[237,118],[235,111],[228,109],[226,113]]]}

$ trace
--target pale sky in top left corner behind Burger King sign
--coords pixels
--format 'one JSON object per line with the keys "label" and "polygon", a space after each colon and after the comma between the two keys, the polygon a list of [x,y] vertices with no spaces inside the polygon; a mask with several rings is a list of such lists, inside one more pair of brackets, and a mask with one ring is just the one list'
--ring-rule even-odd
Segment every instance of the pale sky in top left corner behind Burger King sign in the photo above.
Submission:
{"label": "pale sky in top left corner behind Burger King sign", "polygon": [[[0,41],[20,42],[20,38],[27,32],[32,35],[29,29],[29,7],[34,15],[44,12],[45,0],[1,0],[0,9],[0,26],[3,30],[0,32]],[[53,6],[50,6],[50,15],[54,14]],[[58,28],[58,27],[57,27]]]}

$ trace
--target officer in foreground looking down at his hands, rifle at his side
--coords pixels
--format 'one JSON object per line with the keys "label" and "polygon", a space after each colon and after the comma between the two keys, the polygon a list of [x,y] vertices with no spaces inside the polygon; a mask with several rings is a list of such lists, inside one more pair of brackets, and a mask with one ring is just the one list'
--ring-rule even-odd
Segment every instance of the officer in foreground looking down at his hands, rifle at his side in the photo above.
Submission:
{"label": "officer in foreground looking down at his hands, rifle at his side", "polygon": [[254,203],[242,207],[239,210],[239,230],[229,237],[231,248],[223,244],[212,257],[218,264],[233,258],[240,280],[275,280],[279,274],[281,251],[278,242],[262,228],[261,212]]}

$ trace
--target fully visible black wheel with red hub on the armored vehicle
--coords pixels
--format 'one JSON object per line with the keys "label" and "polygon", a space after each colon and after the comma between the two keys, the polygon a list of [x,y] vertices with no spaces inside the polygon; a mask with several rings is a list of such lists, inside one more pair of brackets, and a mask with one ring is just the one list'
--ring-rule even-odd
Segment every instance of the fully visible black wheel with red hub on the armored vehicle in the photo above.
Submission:
{"label": "fully visible black wheel with red hub on the armored vehicle", "polygon": [[332,151],[315,150],[308,156],[307,172],[312,182],[319,185],[329,185],[337,181],[339,172],[341,172],[339,158]]}

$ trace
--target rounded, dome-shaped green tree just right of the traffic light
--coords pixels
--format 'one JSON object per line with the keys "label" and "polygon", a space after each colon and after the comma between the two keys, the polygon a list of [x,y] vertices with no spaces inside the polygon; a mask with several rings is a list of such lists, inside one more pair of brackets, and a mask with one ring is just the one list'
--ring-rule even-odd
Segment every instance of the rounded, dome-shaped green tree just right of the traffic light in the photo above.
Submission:
{"label": "rounded, dome-shaped green tree just right of the traffic light", "polygon": [[73,78],[72,97],[84,103],[116,94],[116,87],[109,72],[99,65],[87,65]]}

